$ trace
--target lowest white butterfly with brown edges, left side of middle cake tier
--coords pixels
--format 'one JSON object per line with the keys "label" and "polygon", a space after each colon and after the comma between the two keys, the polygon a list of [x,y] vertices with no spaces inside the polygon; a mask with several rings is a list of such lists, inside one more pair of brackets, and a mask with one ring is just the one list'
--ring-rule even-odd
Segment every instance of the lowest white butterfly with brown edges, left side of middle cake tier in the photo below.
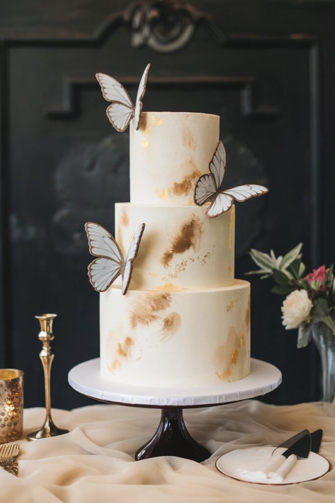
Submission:
{"label": "lowest white butterfly with brown edges, left side of middle cake tier", "polygon": [[88,277],[96,292],[105,292],[110,285],[122,276],[122,293],[126,295],[132,279],[133,261],[139,251],[145,223],[141,223],[130,244],[126,260],[114,237],[101,225],[85,223],[89,253],[97,259],[88,266]]}

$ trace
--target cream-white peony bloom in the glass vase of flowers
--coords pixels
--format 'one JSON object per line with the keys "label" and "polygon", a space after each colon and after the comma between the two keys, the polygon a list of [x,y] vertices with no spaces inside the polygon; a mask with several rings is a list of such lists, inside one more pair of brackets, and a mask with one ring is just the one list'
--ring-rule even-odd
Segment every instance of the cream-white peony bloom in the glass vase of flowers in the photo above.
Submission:
{"label": "cream-white peony bloom in the glass vase of flowers", "polygon": [[286,330],[298,328],[299,325],[308,319],[312,301],[307,295],[306,290],[294,290],[283,302],[281,311],[283,313],[283,325]]}

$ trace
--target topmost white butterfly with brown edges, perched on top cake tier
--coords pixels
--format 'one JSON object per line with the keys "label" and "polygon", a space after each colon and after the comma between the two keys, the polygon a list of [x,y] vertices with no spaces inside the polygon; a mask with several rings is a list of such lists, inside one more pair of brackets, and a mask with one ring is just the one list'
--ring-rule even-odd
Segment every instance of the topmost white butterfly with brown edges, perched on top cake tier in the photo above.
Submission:
{"label": "topmost white butterfly with brown edges, perched on top cake tier", "polygon": [[140,128],[142,100],[145,95],[150,63],[143,72],[139,89],[136,96],[135,107],[125,88],[115,78],[105,73],[96,73],[96,79],[100,84],[103,98],[110,101],[106,114],[109,122],[113,124],[117,131],[126,131],[133,117],[135,117],[135,128]]}

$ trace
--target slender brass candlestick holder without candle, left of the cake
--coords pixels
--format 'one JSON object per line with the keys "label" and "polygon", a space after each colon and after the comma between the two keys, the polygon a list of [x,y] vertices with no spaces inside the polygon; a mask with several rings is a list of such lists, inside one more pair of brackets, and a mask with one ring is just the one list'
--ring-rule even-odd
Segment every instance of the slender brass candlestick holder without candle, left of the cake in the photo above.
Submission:
{"label": "slender brass candlestick holder without candle, left of the cake", "polygon": [[40,322],[41,331],[38,334],[38,338],[43,344],[42,351],[40,353],[40,359],[44,370],[44,388],[45,388],[45,408],[46,417],[44,425],[37,432],[32,432],[27,435],[28,440],[45,439],[48,437],[57,437],[57,435],[63,435],[64,433],[69,433],[68,430],[62,430],[57,428],[57,426],[52,421],[51,417],[51,396],[50,396],[50,373],[51,364],[54,359],[54,354],[50,347],[50,342],[54,340],[54,334],[52,332],[53,320],[57,317],[57,314],[41,314],[35,316]]}

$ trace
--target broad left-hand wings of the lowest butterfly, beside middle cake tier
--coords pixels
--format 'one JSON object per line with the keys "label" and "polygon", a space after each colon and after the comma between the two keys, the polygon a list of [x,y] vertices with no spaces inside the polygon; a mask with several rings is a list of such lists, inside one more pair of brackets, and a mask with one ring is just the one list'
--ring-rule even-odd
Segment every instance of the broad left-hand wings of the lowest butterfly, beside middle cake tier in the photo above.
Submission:
{"label": "broad left-hand wings of the lowest butterfly, beside middle cake tier", "polygon": [[101,225],[85,223],[89,253],[97,259],[88,266],[89,281],[97,292],[104,292],[122,273],[124,258],[114,237]]}

